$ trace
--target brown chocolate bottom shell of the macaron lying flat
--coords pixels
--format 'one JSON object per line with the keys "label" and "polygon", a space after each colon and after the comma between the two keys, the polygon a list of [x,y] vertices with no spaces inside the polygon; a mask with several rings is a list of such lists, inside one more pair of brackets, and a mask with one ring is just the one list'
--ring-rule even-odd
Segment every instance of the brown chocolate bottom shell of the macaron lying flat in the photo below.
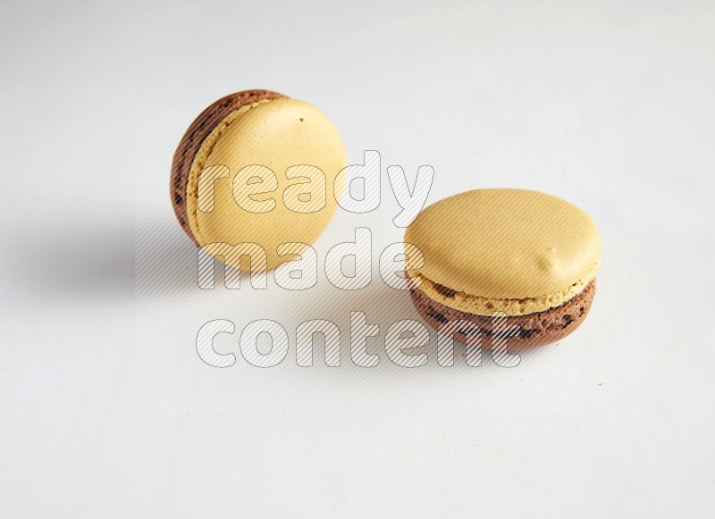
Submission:
{"label": "brown chocolate bottom shell of the macaron lying flat", "polygon": [[[509,350],[526,349],[563,339],[584,321],[595,293],[596,280],[593,280],[583,292],[561,306],[535,314],[507,317],[506,325],[517,327],[516,333],[507,339],[507,347]],[[419,289],[410,290],[410,294],[417,312],[435,330],[439,330],[445,322],[465,319],[474,322],[478,327],[482,334],[482,347],[487,349],[492,347],[492,317],[468,314],[444,306],[427,297],[425,292]],[[455,339],[466,342],[468,335],[474,332],[461,333],[462,330],[455,333]]]}

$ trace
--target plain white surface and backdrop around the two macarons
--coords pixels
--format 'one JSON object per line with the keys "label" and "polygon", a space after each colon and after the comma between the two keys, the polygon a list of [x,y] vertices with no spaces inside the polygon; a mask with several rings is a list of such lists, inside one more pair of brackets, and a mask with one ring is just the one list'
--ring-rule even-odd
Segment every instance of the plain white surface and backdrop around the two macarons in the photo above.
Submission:
{"label": "plain white surface and backdrop around the two macarons", "polygon": [[[711,4],[22,2],[0,23],[2,515],[712,514]],[[199,290],[172,153],[246,88],[324,110],[351,163],[432,165],[429,202],[504,186],[585,209],[588,319],[516,368],[442,368],[432,344],[406,369],[382,341],[416,312],[379,278]],[[365,226],[376,265],[397,211],[383,189],[337,214],[319,259]],[[350,310],[381,326],[373,369]],[[240,357],[258,317],[291,337],[271,369]],[[238,330],[224,370],[194,344],[217,318]],[[341,367],[295,364],[311,318],[340,325]]]}

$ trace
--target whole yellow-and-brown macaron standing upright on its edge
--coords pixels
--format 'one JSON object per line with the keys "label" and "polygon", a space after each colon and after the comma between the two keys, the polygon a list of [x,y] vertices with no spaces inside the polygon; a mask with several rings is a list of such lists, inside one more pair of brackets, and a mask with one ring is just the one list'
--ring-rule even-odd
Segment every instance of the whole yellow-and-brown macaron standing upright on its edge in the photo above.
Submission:
{"label": "whole yellow-and-brown macaron standing upright on its edge", "polygon": [[[338,130],[315,106],[270,90],[237,92],[208,106],[181,138],[172,206],[198,247],[257,244],[267,259],[257,266],[252,258],[249,268],[272,269],[285,261],[279,250],[299,254],[323,232],[346,166]],[[248,270],[239,255],[217,257]]]}

